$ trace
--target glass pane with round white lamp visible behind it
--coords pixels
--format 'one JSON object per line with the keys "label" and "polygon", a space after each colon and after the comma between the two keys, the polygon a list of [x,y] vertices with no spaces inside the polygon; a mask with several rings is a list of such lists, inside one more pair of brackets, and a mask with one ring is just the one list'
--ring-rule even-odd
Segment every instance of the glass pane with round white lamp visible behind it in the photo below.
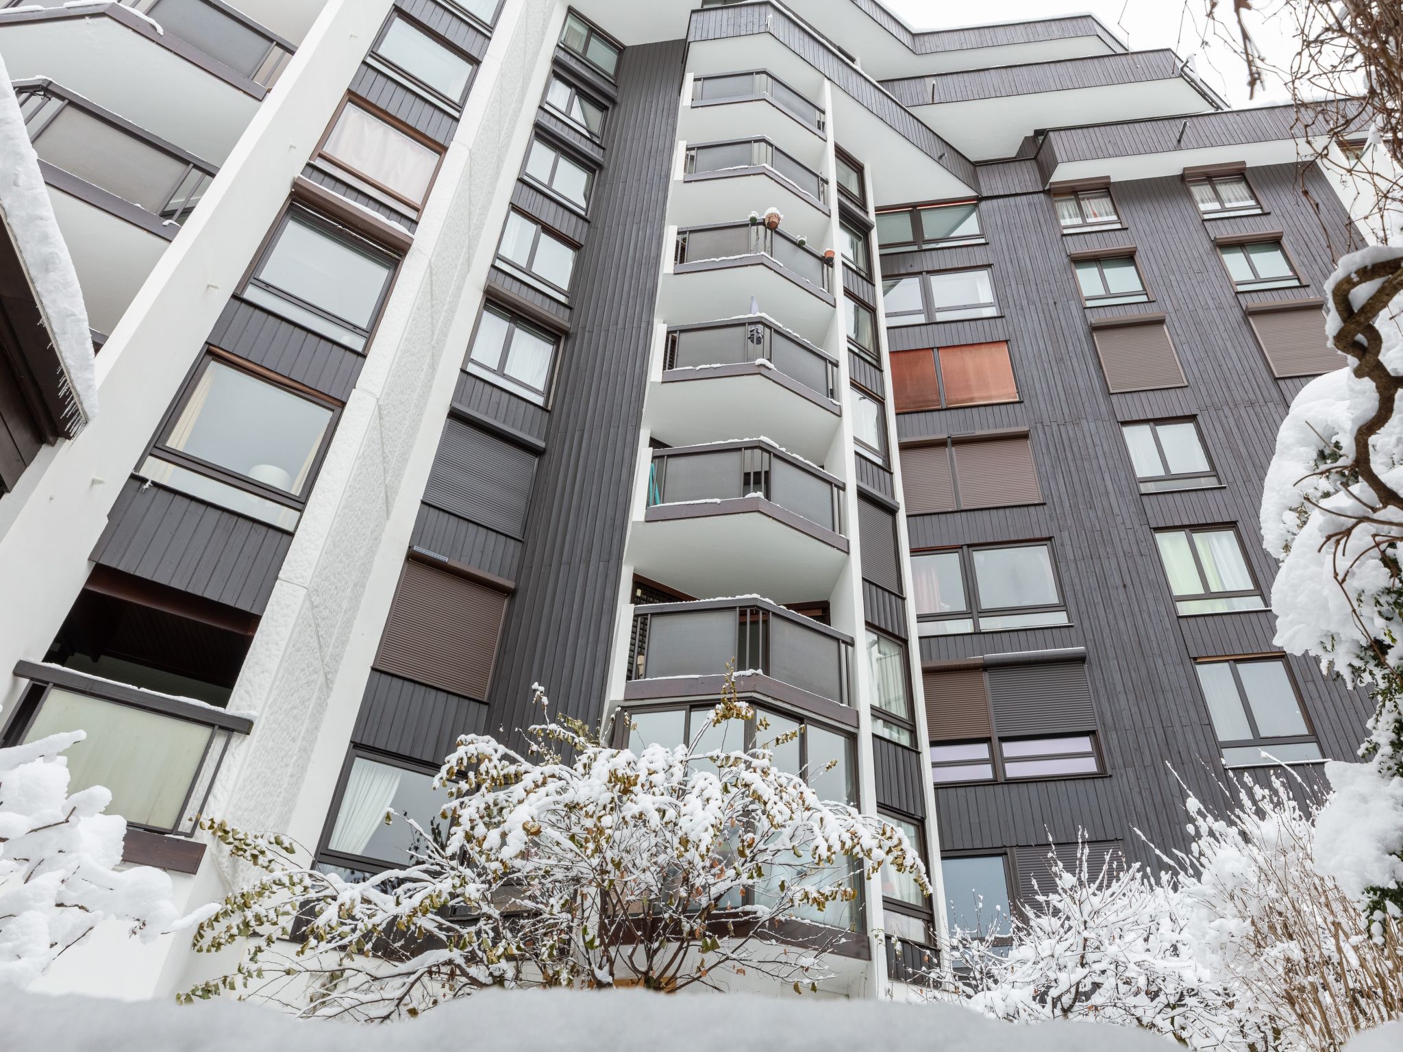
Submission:
{"label": "glass pane with round white lamp visible behind it", "polygon": [[330,421],[331,410],[324,405],[210,362],[166,445],[300,494]]}

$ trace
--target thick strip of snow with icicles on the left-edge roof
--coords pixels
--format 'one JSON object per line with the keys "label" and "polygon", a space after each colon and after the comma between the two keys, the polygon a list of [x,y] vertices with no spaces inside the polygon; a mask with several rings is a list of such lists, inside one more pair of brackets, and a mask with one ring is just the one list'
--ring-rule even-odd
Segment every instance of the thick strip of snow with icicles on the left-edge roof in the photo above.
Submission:
{"label": "thick strip of snow with icicles on the left-edge roof", "polygon": [[39,157],[0,59],[0,222],[29,281],[34,302],[58,353],[65,426],[77,435],[97,414],[93,332],[69,247],[53,216]]}

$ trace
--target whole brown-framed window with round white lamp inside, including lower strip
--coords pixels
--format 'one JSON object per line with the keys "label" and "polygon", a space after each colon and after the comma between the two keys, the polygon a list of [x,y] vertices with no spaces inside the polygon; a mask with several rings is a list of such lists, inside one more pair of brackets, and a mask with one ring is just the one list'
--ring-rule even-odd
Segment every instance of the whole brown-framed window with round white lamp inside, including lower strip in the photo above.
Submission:
{"label": "whole brown-framed window with round white lamp inside, including lower strip", "polygon": [[140,474],[292,529],[331,429],[328,404],[206,359]]}

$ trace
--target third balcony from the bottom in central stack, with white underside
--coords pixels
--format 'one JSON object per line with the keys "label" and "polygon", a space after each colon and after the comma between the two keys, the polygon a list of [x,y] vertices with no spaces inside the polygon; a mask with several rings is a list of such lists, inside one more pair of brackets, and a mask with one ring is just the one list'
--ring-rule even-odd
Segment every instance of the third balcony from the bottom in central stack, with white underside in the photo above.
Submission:
{"label": "third balcony from the bottom in central stack, with white underside", "polygon": [[668,332],[644,426],[673,446],[714,442],[765,422],[769,438],[814,461],[839,425],[838,360],[763,316]]}

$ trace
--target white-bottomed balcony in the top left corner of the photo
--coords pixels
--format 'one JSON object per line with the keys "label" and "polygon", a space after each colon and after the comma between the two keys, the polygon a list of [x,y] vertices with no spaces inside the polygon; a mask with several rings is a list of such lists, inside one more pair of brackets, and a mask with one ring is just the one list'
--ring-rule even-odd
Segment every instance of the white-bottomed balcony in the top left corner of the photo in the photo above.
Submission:
{"label": "white-bottomed balcony in the top left corner of the photo", "polygon": [[293,50],[217,0],[7,7],[0,55],[13,79],[52,79],[213,166],[223,164]]}

